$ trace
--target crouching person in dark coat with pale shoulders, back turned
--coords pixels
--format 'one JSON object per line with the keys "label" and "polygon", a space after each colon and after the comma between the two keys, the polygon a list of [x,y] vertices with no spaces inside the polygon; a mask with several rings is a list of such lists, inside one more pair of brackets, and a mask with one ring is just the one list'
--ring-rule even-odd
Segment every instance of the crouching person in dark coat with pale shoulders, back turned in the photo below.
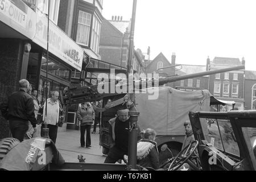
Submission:
{"label": "crouching person in dark coat with pale shoulders, back turned", "polygon": [[142,167],[159,169],[159,153],[155,142],[156,132],[152,129],[143,131],[144,139],[137,144],[137,164]]}

